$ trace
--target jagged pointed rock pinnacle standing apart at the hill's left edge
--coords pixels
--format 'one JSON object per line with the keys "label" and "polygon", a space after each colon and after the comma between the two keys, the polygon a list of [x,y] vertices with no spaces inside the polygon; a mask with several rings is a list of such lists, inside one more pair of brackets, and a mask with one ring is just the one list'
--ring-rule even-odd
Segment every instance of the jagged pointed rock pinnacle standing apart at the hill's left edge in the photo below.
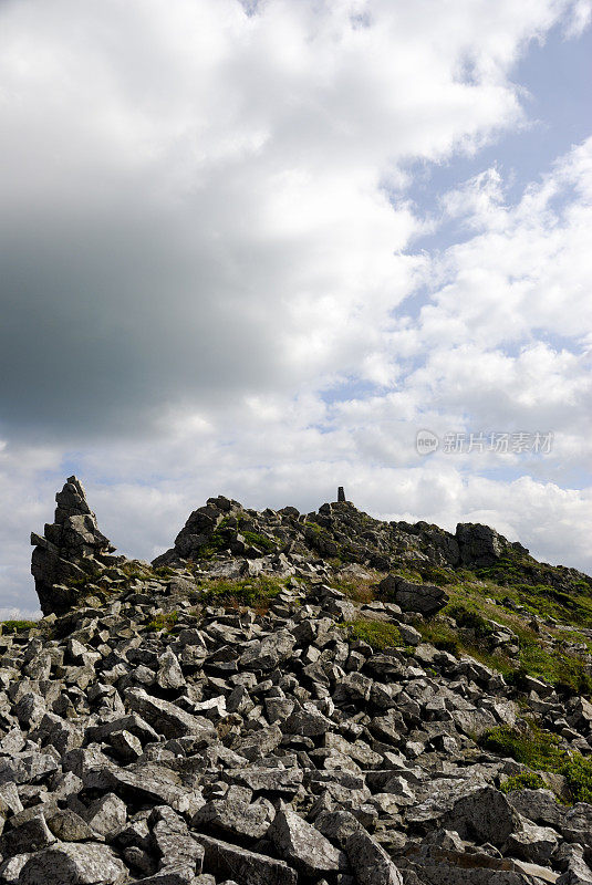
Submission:
{"label": "jagged pointed rock pinnacle standing apart at the hill's left edge", "polygon": [[76,600],[76,586],[106,565],[122,562],[111,556],[115,548],[98,530],[76,477],[70,477],[55,496],[54,521],[43,537],[32,533],[31,573],[43,614],[63,613]]}

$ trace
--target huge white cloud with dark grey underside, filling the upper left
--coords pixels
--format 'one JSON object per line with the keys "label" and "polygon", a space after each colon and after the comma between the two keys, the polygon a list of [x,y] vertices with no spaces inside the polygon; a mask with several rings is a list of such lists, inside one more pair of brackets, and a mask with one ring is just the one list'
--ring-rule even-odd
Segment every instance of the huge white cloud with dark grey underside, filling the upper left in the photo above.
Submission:
{"label": "huge white cloud with dark grey underside, filling the upper left", "polygon": [[164,404],[388,377],[368,330],[420,266],[397,164],[516,125],[511,65],[568,9],[4,3],[7,433],[137,436]]}

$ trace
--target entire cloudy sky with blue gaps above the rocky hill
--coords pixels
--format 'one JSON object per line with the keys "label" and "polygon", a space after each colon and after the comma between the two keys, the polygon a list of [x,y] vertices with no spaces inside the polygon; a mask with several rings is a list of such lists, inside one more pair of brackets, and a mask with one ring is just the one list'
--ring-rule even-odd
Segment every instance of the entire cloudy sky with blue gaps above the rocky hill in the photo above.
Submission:
{"label": "entire cloudy sky with blue gaps above the rocky hill", "polygon": [[342,485],[592,573],[591,19],[2,0],[0,617],[71,473],[145,560]]}

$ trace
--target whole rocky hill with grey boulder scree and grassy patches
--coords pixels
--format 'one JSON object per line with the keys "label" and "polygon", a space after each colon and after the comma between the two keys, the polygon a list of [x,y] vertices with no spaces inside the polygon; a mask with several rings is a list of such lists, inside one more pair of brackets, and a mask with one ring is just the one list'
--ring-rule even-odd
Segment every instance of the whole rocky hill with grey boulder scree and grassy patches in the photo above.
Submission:
{"label": "whole rocky hill with grey boulder scree and grassy patches", "polygon": [[0,636],[4,885],[592,883],[592,579],[224,497],[152,564],[71,477]]}

